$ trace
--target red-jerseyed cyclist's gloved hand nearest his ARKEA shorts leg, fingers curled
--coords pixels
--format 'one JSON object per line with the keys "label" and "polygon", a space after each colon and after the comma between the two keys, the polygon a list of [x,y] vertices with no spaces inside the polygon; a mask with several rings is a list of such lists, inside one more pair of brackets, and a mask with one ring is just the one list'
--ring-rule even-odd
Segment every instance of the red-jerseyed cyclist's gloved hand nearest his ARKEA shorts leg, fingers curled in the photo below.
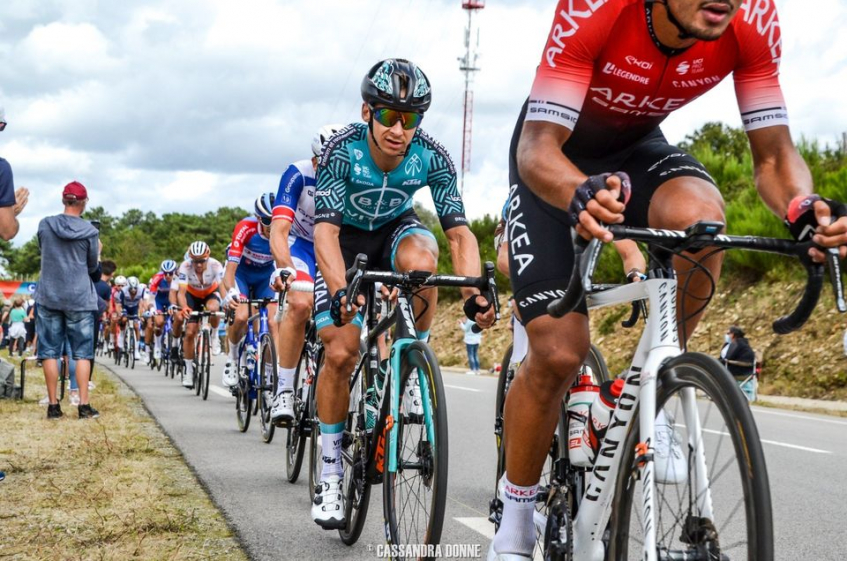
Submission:
{"label": "red-jerseyed cyclist's gloved hand nearest his ARKEA shorts leg, fingers curled", "polygon": [[629,176],[624,172],[592,175],[576,188],[568,212],[577,233],[585,239],[612,241],[612,233],[600,223],[623,222],[629,201]]}

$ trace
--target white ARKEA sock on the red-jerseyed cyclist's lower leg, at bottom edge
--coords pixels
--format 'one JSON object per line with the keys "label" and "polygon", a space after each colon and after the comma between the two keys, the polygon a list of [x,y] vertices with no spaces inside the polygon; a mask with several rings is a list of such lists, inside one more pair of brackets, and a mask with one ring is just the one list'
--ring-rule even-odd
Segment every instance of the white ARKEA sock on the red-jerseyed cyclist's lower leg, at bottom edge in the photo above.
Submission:
{"label": "white ARKEA sock on the red-jerseyed cyclist's lower leg, at bottom edge", "polygon": [[510,483],[507,475],[503,475],[503,518],[500,529],[494,536],[494,551],[532,555],[532,549],[535,547],[532,515],[535,512],[538,485],[521,487]]}

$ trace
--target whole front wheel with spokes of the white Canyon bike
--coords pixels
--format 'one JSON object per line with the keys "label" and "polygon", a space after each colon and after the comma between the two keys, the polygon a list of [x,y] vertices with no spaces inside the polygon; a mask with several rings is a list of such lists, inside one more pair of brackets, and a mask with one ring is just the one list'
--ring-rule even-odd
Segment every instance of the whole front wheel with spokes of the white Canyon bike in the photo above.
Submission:
{"label": "whole front wheel with spokes of the white Canyon bike", "polygon": [[[655,470],[657,549],[669,559],[773,559],[767,467],[753,415],[735,381],[715,359],[685,353],[662,367],[656,400],[657,411],[664,409],[674,428],[671,440],[680,443],[679,463],[686,466],[685,473]],[[610,560],[642,558],[644,478],[629,460],[639,440],[636,418],[612,502]],[[659,437],[657,442],[662,445]]]}

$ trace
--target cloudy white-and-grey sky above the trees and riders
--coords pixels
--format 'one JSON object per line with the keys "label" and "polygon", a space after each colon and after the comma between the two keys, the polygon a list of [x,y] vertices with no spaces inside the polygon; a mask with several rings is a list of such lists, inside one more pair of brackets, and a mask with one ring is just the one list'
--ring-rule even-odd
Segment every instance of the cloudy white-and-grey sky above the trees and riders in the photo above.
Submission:
{"label": "cloudy white-and-grey sky above the trees and riders", "polygon": [[[792,134],[835,142],[847,131],[847,2],[776,3]],[[487,4],[471,216],[502,205],[509,139],[555,10],[553,0]],[[3,0],[0,156],[33,193],[16,243],[61,210],[71,179],[114,214],[247,207],[310,155],[317,127],[358,120],[361,77],[389,56],[429,75],[423,126],[458,165],[465,23],[460,0]],[[740,125],[731,80],[663,128],[677,141],[710,120]]]}

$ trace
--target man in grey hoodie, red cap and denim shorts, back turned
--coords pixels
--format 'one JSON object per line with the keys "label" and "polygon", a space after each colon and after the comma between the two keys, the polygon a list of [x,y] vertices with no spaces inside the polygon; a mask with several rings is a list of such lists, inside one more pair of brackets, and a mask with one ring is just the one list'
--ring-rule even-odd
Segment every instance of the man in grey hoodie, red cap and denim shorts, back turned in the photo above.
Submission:
{"label": "man in grey hoodie, red cap and denim shorts, back turned", "polygon": [[94,281],[100,279],[100,240],[97,229],[80,218],[85,212],[88,192],[72,181],[62,192],[65,212],[48,216],[38,224],[41,247],[41,278],[35,289],[38,304],[35,329],[38,358],[44,364],[47,381],[47,418],[58,419],[62,409],[56,399],[59,380],[57,360],[67,337],[72,358],[77,362],[79,418],[99,416],[88,403],[88,380],[94,359],[94,313],[97,293]]}

